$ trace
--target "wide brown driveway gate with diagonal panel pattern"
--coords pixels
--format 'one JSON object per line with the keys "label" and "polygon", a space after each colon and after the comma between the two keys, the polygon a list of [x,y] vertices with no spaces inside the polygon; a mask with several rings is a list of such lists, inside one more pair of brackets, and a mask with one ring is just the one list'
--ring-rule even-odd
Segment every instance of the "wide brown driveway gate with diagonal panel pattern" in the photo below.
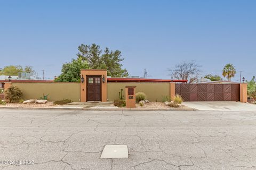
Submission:
{"label": "wide brown driveway gate with diagonal panel pattern", "polygon": [[239,84],[175,84],[184,101],[239,101]]}

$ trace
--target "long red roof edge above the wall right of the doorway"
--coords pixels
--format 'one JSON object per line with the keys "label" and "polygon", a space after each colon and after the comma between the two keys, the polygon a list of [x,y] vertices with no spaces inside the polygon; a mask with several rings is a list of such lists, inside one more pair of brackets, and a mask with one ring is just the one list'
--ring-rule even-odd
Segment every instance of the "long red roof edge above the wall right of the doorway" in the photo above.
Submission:
{"label": "long red roof edge above the wall right of the doorway", "polygon": [[144,78],[107,78],[107,82],[182,82],[188,80],[164,80],[164,79],[144,79]]}

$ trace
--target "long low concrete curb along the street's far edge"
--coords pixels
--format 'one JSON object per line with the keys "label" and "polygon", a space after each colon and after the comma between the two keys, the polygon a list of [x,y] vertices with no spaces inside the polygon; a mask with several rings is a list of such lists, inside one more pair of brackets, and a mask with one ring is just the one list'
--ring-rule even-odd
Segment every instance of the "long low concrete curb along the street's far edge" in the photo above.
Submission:
{"label": "long low concrete curb along the street's far edge", "polygon": [[10,107],[0,109],[35,110],[35,111],[196,111],[194,108],[61,108],[61,107]]}

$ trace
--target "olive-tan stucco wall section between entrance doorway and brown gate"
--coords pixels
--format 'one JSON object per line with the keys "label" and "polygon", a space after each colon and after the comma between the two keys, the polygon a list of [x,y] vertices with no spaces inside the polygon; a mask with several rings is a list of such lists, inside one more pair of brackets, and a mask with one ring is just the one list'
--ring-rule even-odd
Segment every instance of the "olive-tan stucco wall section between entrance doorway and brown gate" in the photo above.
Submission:
{"label": "olive-tan stucco wall section between entrance doorway and brown gate", "polygon": [[164,96],[170,97],[169,82],[108,82],[108,101],[119,99],[118,92],[121,91],[121,89],[123,89],[123,95],[125,98],[125,86],[137,86],[135,92],[144,92],[149,101],[162,101]]}

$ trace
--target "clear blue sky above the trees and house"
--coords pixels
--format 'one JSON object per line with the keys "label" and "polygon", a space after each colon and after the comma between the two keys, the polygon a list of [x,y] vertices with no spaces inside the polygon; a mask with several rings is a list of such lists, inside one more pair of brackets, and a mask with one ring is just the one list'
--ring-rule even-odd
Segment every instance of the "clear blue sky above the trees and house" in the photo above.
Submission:
{"label": "clear blue sky above the trees and house", "polygon": [[119,49],[130,75],[170,78],[168,68],[195,60],[202,75],[233,63],[256,75],[256,1],[0,0],[0,67],[31,65],[47,78],[76,57],[80,44]]}

